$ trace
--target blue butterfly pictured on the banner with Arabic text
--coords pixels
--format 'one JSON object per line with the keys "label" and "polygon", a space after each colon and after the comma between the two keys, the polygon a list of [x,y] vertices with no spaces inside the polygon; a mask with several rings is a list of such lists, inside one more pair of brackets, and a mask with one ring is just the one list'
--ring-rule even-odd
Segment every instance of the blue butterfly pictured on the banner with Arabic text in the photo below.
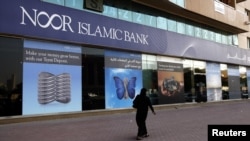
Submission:
{"label": "blue butterfly pictured on the banner with Arabic text", "polygon": [[127,99],[128,97],[133,99],[135,97],[136,77],[122,80],[120,77],[114,76],[114,80],[118,99]]}

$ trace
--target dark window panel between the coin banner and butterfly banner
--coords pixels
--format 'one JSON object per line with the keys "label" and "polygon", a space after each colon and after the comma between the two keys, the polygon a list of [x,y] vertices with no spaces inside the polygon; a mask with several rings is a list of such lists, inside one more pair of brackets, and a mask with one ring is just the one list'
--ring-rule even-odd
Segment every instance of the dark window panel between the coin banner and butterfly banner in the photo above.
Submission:
{"label": "dark window panel between the coin banner and butterfly banner", "polygon": [[105,109],[104,50],[82,49],[82,109]]}

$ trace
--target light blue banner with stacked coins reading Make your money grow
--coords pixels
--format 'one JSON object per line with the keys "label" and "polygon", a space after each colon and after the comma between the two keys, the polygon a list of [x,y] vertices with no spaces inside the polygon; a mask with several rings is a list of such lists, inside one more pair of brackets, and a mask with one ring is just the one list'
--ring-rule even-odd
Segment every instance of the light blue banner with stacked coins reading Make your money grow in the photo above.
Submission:
{"label": "light blue banner with stacked coins reading Make your money grow", "polygon": [[81,47],[24,41],[23,115],[82,110]]}

